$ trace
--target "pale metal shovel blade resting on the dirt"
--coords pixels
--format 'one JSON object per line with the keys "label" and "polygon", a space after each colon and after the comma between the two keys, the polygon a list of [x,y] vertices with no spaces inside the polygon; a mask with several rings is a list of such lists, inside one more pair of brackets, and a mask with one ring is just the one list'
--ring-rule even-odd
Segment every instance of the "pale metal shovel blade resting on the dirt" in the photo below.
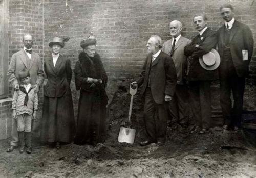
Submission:
{"label": "pale metal shovel blade resting on the dirt", "polygon": [[121,126],[119,135],[118,135],[118,142],[120,143],[133,143],[135,138],[135,129],[131,128],[124,128]]}

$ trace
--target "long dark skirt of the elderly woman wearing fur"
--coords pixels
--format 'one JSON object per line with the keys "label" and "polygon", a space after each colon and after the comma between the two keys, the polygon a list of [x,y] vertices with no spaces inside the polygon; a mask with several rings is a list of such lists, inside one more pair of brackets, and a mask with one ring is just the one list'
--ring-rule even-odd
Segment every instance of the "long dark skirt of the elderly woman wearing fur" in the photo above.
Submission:
{"label": "long dark skirt of the elderly woman wearing fur", "polygon": [[95,93],[80,91],[77,130],[78,145],[104,142],[106,138],[106,105]]}

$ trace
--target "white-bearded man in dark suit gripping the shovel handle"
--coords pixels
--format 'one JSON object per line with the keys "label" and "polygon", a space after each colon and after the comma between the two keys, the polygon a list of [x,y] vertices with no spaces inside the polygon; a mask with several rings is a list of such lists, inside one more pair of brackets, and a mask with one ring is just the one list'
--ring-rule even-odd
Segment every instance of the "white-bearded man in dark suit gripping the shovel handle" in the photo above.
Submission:
{"label": "white-bearded man in dark suit gripping the shovel handle", "polygon": [[[172,100],[176,86],[176,70],[173,59],[161,51],[162,40],[153,35],[147,42],[146,61],[137,81],[132,86],[142,88],[144,104],[144,123],[147,140],[141,142],[141,146],[156,143],[162,146],[165,142],[167,128],[167,111],[165,102]],[[156,119],[155,119],[156,114]]]}

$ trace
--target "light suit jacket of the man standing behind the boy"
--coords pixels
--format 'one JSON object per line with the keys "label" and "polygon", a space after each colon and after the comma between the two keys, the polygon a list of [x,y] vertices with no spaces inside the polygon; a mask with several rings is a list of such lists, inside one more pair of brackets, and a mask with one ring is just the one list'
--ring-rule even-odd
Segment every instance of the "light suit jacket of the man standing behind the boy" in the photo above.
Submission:
{"label": "light suit jacket of the man standing behind the boy", "polygon": [[11,57],[7,76],[12,87],[14,87],[17,83],[20,83],[18,73],[20,70],[25,68],[29,70],[31,85],[38,84],[39,87],[41,87],[42,82],[44,81],[44,71],[42,70],[42,61],[40,56],[32,51],[31,59],[29,59],[28,55],[24,51],[24,48],[13,54]]}

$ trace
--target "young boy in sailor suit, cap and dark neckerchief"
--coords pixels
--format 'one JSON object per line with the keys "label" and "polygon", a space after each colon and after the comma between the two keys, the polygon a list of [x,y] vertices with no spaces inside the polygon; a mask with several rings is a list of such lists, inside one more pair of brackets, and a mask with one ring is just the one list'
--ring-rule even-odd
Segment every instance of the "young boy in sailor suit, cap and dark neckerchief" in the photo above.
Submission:
{"label": "young boy in sailor suit, cap and dark neckerchief", "polygon": [[36,118],[38,107],[36,87],[30,84],[30,75],[27,69],[20,70],[18,77],[21,81],[19,90],[14,91],[12,98],[12,116],[17,119],[18,137],[20,142],[20,150],[28,154],[32,152],[31,145],[31,123]]}

